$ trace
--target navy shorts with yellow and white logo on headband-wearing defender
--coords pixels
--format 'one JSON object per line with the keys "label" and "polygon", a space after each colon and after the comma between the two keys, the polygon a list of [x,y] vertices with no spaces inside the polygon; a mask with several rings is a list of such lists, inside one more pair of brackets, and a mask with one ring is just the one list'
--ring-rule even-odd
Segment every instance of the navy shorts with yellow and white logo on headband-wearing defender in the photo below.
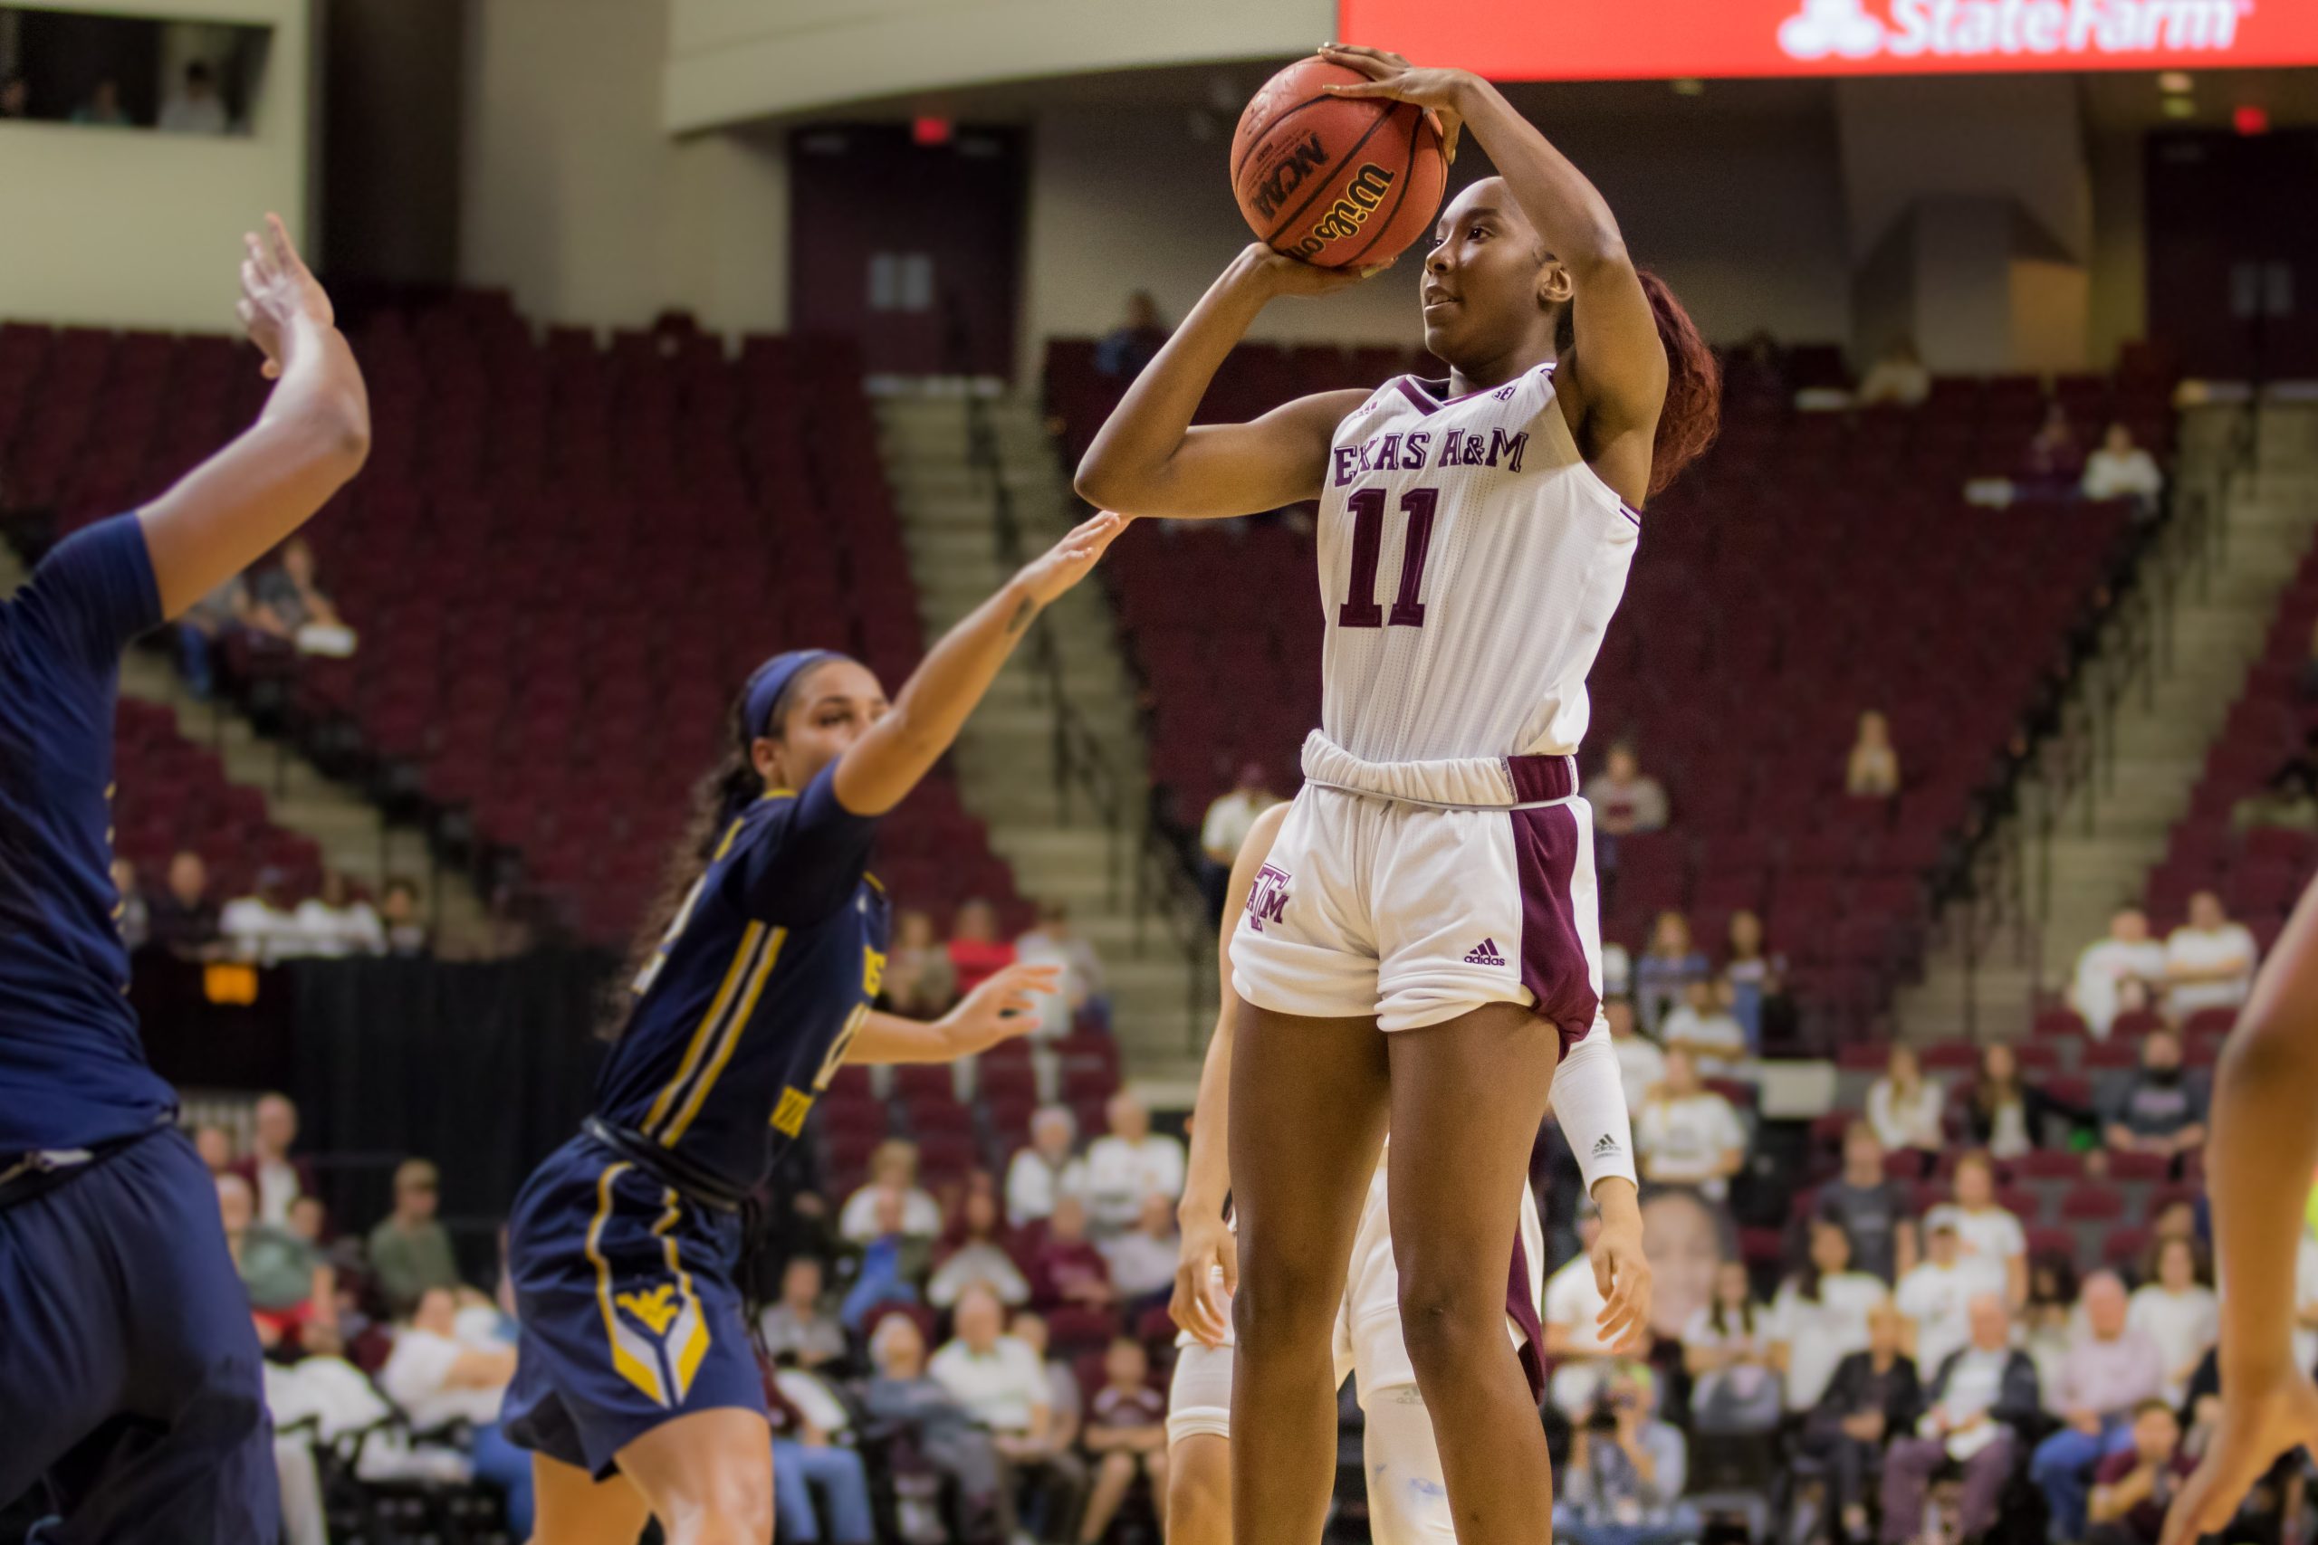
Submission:
{"label": "navy shorts with yellow and white logo on headband-wearing defender", "polygon": [[522,1350],[510,1438],[598,1480],[661,1422],[765,1383],[732,1281],[739,1216],[691,1202],[596,1142],[547,1156],[508,1221]]}

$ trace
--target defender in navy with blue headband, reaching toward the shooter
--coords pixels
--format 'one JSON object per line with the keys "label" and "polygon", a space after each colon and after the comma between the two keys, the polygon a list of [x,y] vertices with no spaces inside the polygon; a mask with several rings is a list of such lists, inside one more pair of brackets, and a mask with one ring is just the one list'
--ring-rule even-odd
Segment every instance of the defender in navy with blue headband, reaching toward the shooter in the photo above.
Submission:
{"label": "defender in navy with blue headband, reaching toward the shooter", "polygon": [[1015,966],[939,1024],[872,1008],[890,906],[876,818],[950,748],[1029,621],[1124,528],[1087,521],[950,630],[888,706],[837,653],[767,660],[702,785],[679,887],[582,1133],[508,1225],[522,1350],[508,1434],[540,1540],[772,1538],[772,1438],[735,1267],[739,1204],[844,1063],[950,1061],[1029,1028]]}

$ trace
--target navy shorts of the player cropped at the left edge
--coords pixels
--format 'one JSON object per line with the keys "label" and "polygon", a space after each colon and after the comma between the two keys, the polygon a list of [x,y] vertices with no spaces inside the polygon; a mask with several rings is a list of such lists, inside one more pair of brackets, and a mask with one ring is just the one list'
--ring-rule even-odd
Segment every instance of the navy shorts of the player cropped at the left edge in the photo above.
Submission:
{"label": "navy shorts of the player cropped at the left edge", "polygon": [[158,1130],[0,1209],[0,1503],[56,1545],[271,1545],[274,1427],[218,1188]]}

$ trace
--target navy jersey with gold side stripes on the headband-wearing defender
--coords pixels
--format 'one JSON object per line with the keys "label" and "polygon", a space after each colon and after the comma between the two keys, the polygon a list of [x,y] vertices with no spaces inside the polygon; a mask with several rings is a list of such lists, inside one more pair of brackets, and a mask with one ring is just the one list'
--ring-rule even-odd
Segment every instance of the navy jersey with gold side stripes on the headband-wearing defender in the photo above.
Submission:
{"label": "navy jersey with gold side stripes on the headband-wearing defender", "polygon": [[596,1114],[735,1191],[756,1188],[860,1031],[885,975],[876,820],[834,764],[723,834],[596,1082]]}

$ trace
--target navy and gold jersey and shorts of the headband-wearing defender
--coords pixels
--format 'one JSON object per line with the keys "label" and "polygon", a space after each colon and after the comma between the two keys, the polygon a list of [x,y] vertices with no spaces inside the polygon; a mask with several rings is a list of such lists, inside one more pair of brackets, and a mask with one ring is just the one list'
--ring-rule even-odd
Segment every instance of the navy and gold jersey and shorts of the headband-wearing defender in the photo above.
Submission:
{"label": "navy and gold jersey and shorts of the headband-wearing defender", "polygon": [[596,1476],[693,1411],[765,1413],[735,1286],[737,1198],[772,1172],[869,1015],[885,971],[876,822],[834,767],[723,834],[596,1086],[589,1130],[515,1202],[524,1327],[508,1434]]}

